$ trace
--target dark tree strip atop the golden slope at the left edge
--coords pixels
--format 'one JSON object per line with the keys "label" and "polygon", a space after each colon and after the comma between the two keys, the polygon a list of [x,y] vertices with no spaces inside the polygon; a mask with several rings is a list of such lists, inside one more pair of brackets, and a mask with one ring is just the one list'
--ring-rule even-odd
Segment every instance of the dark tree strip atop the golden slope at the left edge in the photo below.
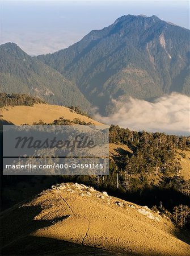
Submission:
{"label": "dark tree strip atop the golden slope at the left edge", "polygon": [[3,106],[33,106],[35,103],[43,103],[45,101],[37,97],[32,97],[27,94],[16,94],[16,93],[0,93],[0,107]]}

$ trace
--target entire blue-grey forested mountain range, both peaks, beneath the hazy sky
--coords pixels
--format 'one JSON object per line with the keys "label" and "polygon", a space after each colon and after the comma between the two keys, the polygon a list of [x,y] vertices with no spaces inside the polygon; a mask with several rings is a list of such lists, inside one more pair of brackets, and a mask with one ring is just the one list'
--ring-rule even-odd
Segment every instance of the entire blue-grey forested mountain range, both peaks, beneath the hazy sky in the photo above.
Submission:
{"label": "entire blue-grey forested mountain range, both peaks, beneath the hazy sky", "polygon": [[50,104],[109,114],[112,99],[190,95],[190,31],[157,16],[126,15],[58,52],[31,57],[0,46],[1,92],[30,93]]}

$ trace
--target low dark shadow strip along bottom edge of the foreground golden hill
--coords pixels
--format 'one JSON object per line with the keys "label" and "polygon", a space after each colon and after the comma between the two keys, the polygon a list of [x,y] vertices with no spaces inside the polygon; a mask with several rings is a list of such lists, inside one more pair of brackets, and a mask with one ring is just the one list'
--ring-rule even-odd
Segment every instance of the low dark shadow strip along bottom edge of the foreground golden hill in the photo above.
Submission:
{"label": "low dark shadow strip along bottom edge of the foreground golden hill", "polygon": [[23,238],[20,237],[17,241],[12,242],[11,245],[5,247],[1,255],[116,256],[118,254],[114,254],[95,247],[82,246],[77,243],[56,240],[54,238],[26,236]]}

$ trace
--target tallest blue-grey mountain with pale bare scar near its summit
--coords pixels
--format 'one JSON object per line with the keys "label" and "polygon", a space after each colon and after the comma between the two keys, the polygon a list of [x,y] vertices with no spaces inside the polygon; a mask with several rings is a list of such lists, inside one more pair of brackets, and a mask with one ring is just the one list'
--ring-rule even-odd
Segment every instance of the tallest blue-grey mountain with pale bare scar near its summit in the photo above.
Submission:
{"label": "tallest blue-grey mountain with pale bare scar near its summit", "polygon": [[73,80],[100,111],[112,98],[190,95],[189,30],[157,16],[121,16],[61,51],[38,56]]}

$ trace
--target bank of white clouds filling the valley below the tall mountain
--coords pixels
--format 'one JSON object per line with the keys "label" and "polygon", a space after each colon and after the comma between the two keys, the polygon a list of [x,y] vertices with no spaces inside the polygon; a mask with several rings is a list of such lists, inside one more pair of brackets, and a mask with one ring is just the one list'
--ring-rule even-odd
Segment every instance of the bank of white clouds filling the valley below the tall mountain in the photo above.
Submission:
{"label": "bank of white clouds filling the valley below the tall mountain", "polygon": [[113,100],[114,110],[108,117],[96,113],[98,121],[128,127],[131,130],[160,131],[167,134],[189,134],[190,97],[172,93],[154,102],[137,100]]}

